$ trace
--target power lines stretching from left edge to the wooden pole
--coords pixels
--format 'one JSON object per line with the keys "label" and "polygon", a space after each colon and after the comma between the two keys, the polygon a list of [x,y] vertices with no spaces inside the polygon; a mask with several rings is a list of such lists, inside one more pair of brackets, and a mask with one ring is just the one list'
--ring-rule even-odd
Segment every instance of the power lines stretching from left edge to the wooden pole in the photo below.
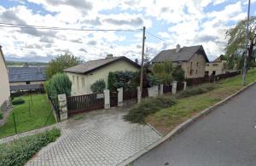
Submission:
{"label": "power lines stretching from left edge to the wooden pole", "polygon": [[56,30],[56,31],[142,31],[143,29],[79,29],[79,28],[66,28],[66,27],[51,27],[51,26],[31,26],[22,24],[10,24],[0,22],[0,27],[10,28],[33,28],[40,30]]}

